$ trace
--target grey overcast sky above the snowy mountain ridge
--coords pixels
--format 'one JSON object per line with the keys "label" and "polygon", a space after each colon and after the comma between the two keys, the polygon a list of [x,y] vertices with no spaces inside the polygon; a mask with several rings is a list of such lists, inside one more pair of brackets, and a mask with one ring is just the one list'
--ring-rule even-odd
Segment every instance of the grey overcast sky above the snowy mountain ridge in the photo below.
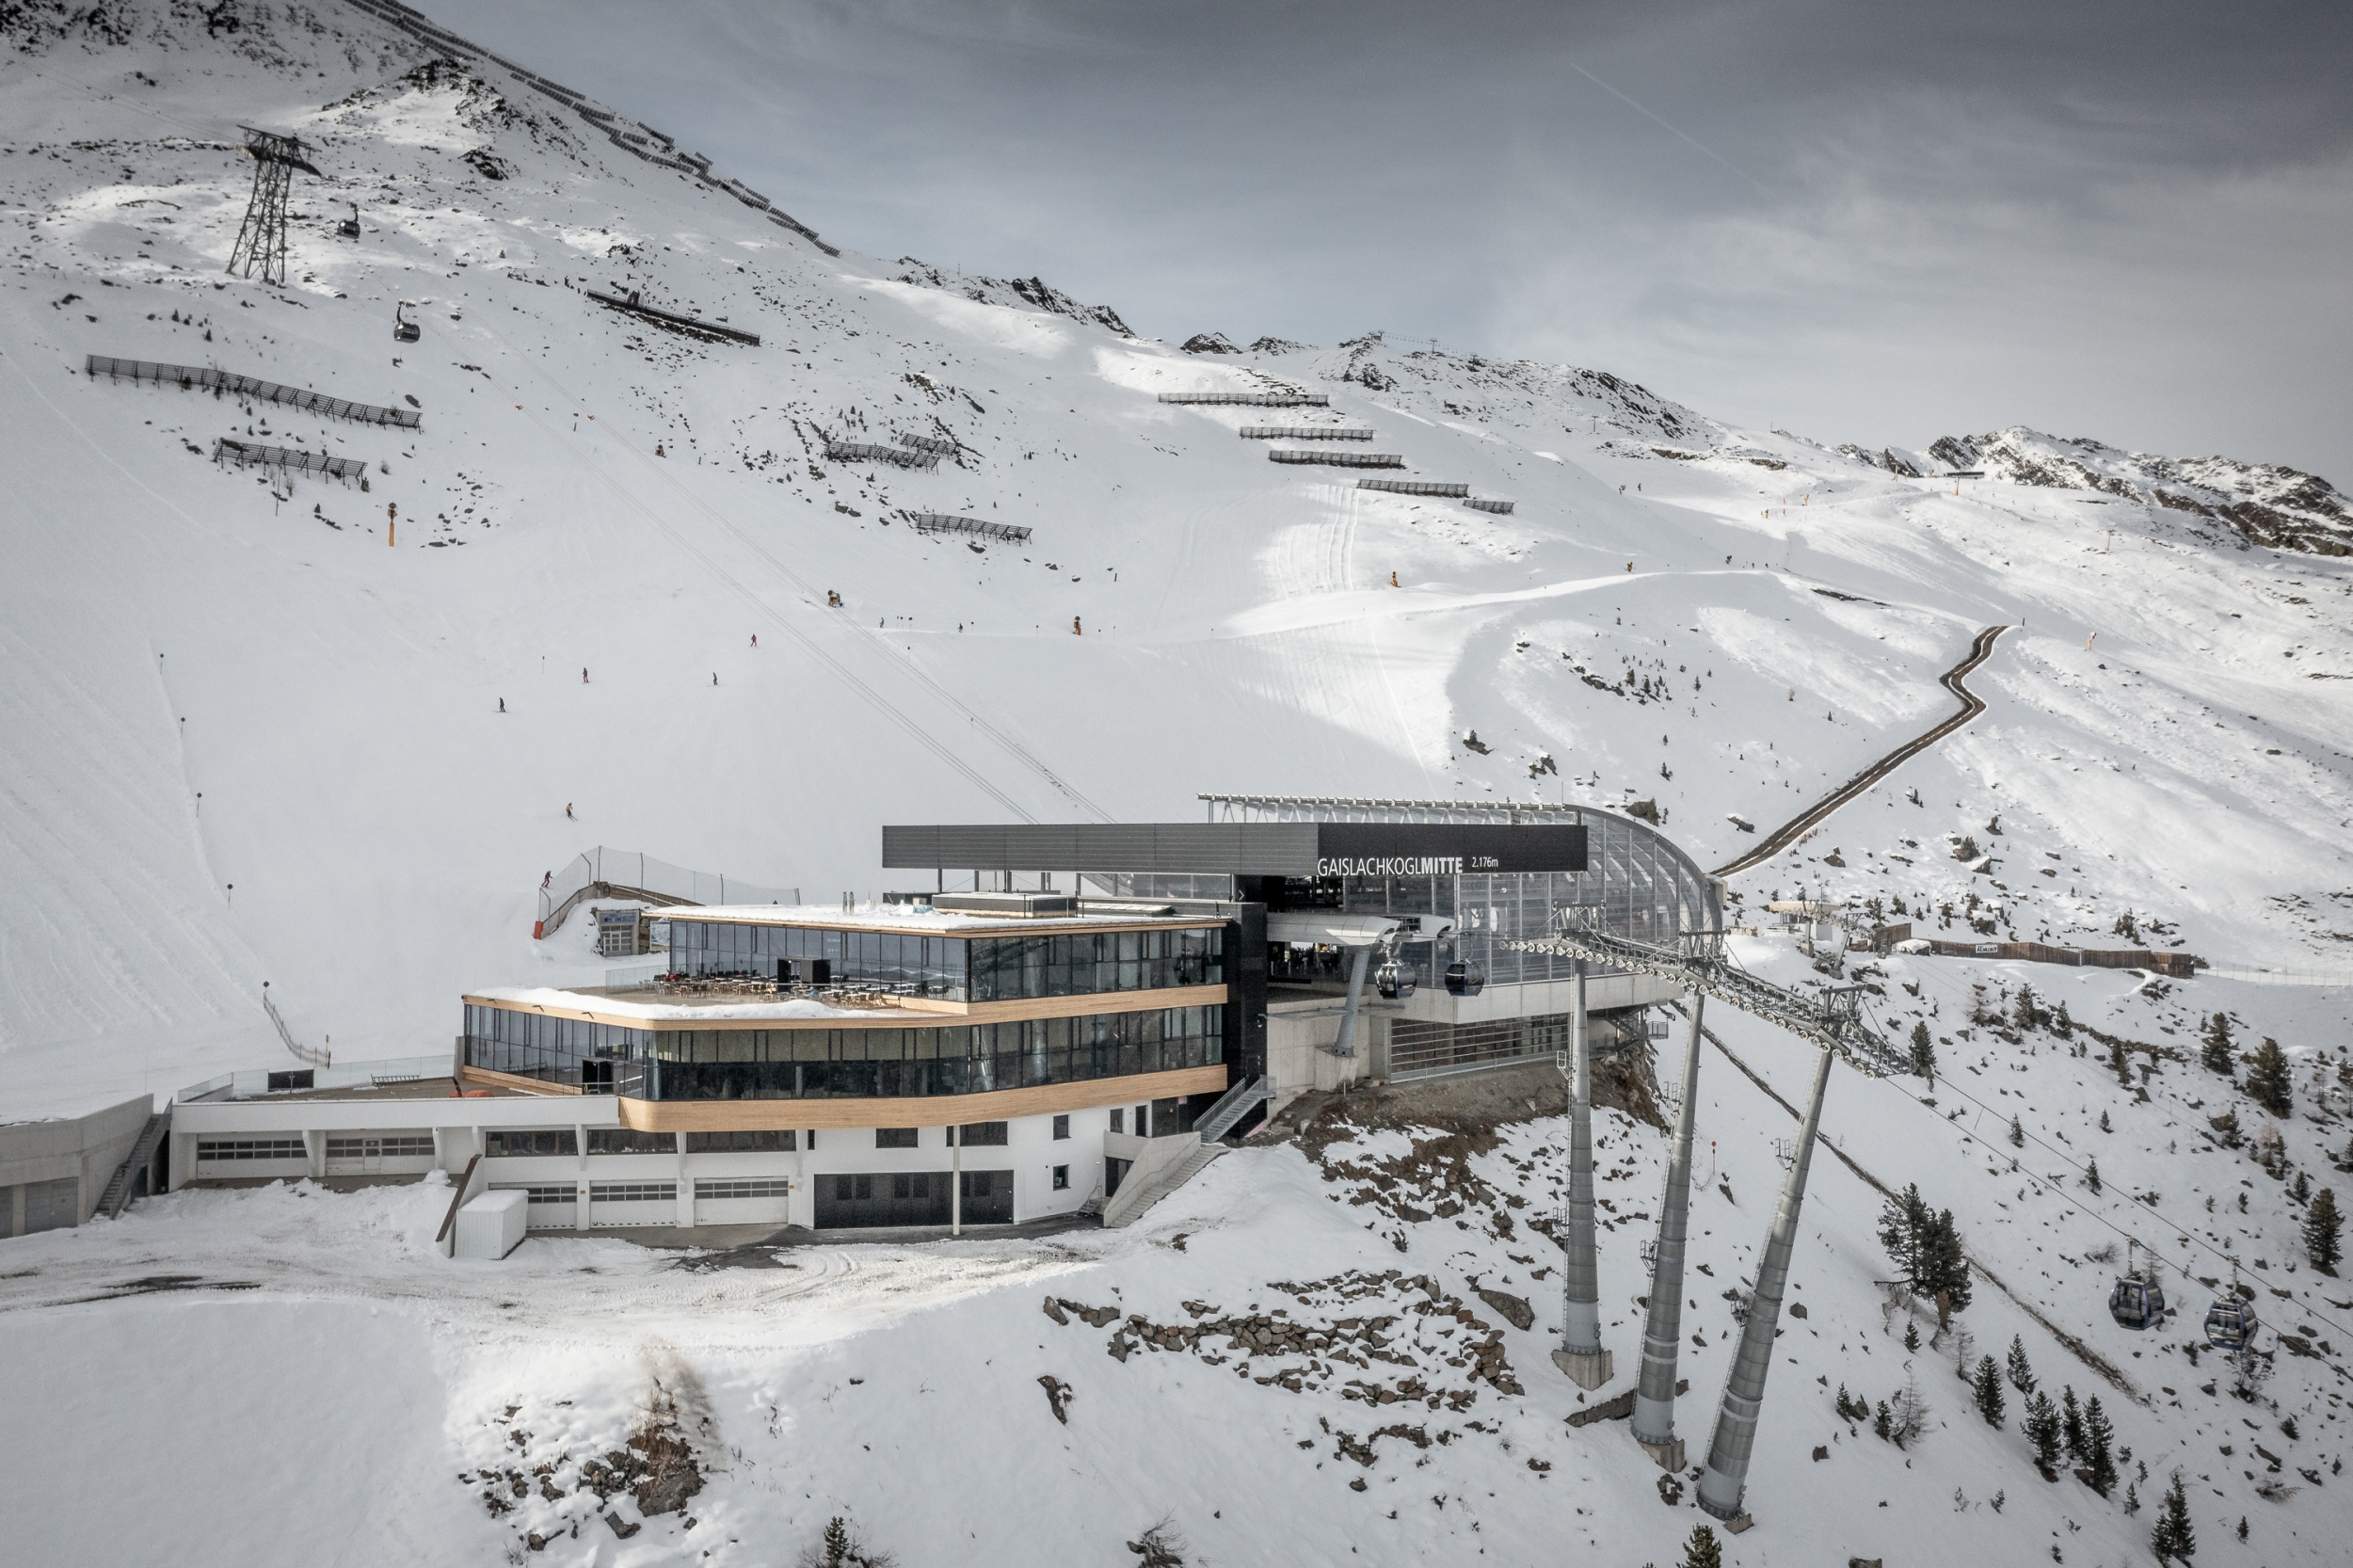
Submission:
{"label": "grey overcast sky above the snowy mountain ridge", "polygon": [[828,240],[2353,490],[2353,5],[424,0]]}

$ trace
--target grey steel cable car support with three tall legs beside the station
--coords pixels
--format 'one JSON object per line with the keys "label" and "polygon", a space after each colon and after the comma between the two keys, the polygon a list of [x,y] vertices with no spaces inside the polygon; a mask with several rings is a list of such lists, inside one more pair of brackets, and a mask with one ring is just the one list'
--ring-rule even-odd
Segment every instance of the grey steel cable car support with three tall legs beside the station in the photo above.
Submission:
{"label": "grey steel cable car support with three tall legs beside the station", "polygon": [[1569,1090],[1569,1215],[1562,1344],[1553,1356],[1586,1389],[1609,1380],[1609,1351],[1600,1347],[1598,1250],[1593,1238],[1593,1064],[1586,1043],[1584,970],[1600,963],[1612,970],[1673,979],[1692,994],[1692,1026],[1682,1048],[1682,1097],[1675,1104],[1675,1130],[1666,1165],[1666,1201],[1659,1212],[1659,1248],[1652,1262],[1649,1318],[1642,1326],[1642,1380],[1633,1396],[1633,1436],[1664,1469],[1682,1469],[1685,1446],[1675,1436],[1675,1354],[1682,1342],[1682,1255],[1689,1238],[1692,1142],[1699,1116],[1699,1024],[1713,996],[1741,1012],[1779,1024],[1812,1041],[1819,1050],[1814,1085],[1798,1135],[1798,1151],[1781,1180],[1765,1255],[1758,1262],[1755,1295],[1741,1326],[1741,1344],[1725,1377],[1715,1434],[1708,1441],[1708,1467],[1699,1481],[1699,1507],[1734,1530],[1746,1528],[1741,1497],[1748,1488],[1748,1457],[1755,1450],[1758,1410],[1765,1403],[1765,1375],[1772,1370],[1772,1342],[1781,1323],[1781,1297],[1788,1293],[1788,1264],[1798,1248],[1798,1210],[1805,1203],[1805,1177],[1821,1130],[1821,1099],[1831,1083],[1831,1059],[1845,1057],[1866,1076],[1899,1074],[1906,1057],[1882,1041],[1861,1012],[1861,986],[1828,986],[1819,996],[1788,991],[1748,975],[1729,954],[1720,930],[1692,930],[1673,944],[1635,942],[1612,935],[1595,906],[1560,911],[1553,937],[1506,942],[1525,954],[1548,954],[1577,961],[1579,1005],[1572,1024]]}

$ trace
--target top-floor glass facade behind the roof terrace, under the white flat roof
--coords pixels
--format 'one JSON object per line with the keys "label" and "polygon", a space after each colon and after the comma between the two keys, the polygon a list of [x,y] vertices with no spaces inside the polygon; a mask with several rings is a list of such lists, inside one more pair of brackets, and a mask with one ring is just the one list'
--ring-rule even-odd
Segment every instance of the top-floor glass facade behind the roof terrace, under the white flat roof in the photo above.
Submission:
{"label": "top-floor glass facade behind the roof terrace, under the white flat roof", "polygon": [[1224,984],[1221,928],[1035,937],[934,937],[682,918],[671,918],[668,928],[671,970],[694,977],[904,984],[915,996],[939,1001],[1026,1001]]}

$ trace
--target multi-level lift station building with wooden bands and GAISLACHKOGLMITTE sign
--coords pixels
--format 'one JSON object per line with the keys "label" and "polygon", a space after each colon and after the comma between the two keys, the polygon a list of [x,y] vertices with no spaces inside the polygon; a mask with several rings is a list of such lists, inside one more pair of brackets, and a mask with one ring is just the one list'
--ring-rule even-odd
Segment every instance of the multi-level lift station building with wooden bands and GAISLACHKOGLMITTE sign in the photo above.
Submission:
{"label": "multi-level lift station building with wooden bands and GAISLACHKOGLMITTE sign", "polygon": [[[1122,1224],[1261,1107],[1551,1059],[1574,961],[1506,944],[1562,911],[1645,942],[1720,925],[1718,885],[1612,812],[1205,800],[885,826],[913,890],[880,899],[645,909],[638,970],[452,998],[433,1055],[184,1090],[169,1184],[447,1170],[452,1217],[522,1189],[534,1231]],[[1602,1052],[1673,984],[1591,970],[1584,994]]]}

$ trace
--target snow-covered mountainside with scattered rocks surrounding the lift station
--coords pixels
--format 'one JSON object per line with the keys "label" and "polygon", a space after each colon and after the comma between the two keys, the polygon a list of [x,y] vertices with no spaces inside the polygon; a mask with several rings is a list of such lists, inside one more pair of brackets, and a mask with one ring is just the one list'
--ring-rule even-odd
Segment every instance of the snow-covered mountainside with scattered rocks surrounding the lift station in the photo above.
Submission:
{"label": "snow-covered mountainside with scattered rocks surrounding the lift station", "polygon": [[[2341,499],[2320,480],[2299,490],[2304,476],[2287,471],[2165,466],[2021,433],[1972,445],[1965,466],[1984,466],[1981,480],[1913,478],[1800,436],[1729,428],[1598,370],[1379,337],[1186,353],[1127,337],[1115,313],[1038,280],[831,254],[675,148],[649,162],[614,141],[616,120],[584,118],[492,61],[438,64],[440,52],[362,9],[19,7],[7,26],[0,1114],[169,1092],[275,1057],[264,979],[301,1038],[332,1036],[346,1059],[445,1041],[468,984],[593,968],[576,928],[529,942],[539,876],[591,843],[831,897],[875,888],[882,822],[1184,819],[1193,791],[1257,789],[1654,800],[1673,836],[1720,864],[1755,843],[1732,817],[1769,829],[1948,713],[1937,676],[1979,629],[2007,624],[1972,676],[1991,702],[1977,723],[1734,878],[1734,895],[1755,909],[1802,888],[1882,899],[1889,916],[1904,899],[1937,911],[1918,916],[1922,935],[1974,923],[1977,935],[2144,939],[2214,965],[2195,982],[2141,984],[1889,961],[1875,979],[1882,1024],[1908,1031],[1918,1010],[1946,1036],[1955,1078],[1920,1109],[1897,1104],[1920,1085],[1840,1074],[1828,1125],[1880,1180],[1918,1180],[1955,1208],[2024,1302],[1981,1285],[1965,1326],[1993,1351],[2024,1335],[2049,1382],[2089,1391],[2097,1380],[2120,1441],[2151,1467],[2144,1504],[2181,1464],[2205,1488],[2195,1514],[2209,1561],[2228,1556],[2224,1530],[2240,1514],[2257,1530],[2249,1561],[2332,1561],[2346,1523],[2334,1368],[2353,1340],[2341,1328],[2353,1293],[2287,1264],[2301,1215],[2289,1170],[2344,1187],[2329,1170],[2348,1137],[2344,1099],[2315,1095],[2346,1050],[2346,989],[2254,979],[2353,968],[2353,563],[2320,549],[2341,537],[2341,513],[2329,523],[2325,511]],[[240,122],[301,134],[322,170],[294,184],[285,290],[221,271],[252,177]],[[358,240],[334,235],[344,202],[360,207]],[[795,219],[821,228],[824,214],[795,207]],[[638,292],[762,341],[673,334],[588,290]],[[391,334],[402,299],[416,301],[416,344]],[[92,353],[414,405],[424,421],[398,431],[92,379]],[[1282,386],[1329,407],[1155,396]],[[1266,457],[1306,443],[1238,438],[1294,421],[1369,426],[1362,445],[1402,454],[1407,478],[1466,483],[1515,511],[1358,490],[1360,471]],[[899,436],[955,450],[934,471],[826,454],[828,440]],[[367,490],[273,487],[209,461],[219,438],[365,459]],[[2061,469],[2061,454],[2078,466]],[[918,534],[913,513],[1033,534],[1021,546]],[[1967,859],[1955,857],[1965,838],[1977,841]],[[2127,913],[2139,937],[2118,935]],[[1744,954],[1784,979],[1807,975],[1786,944]],[[2155,1045],[2151,1099],[2101,1067],[2104,1043],[2078,1057],[2080,1034],[2028,1029],[2012,1043],[1972,1024],[1974,982],[1988,984],[1988,1012],[2009,1005],[2005,986],[2014,998],[2031,984],[2082,1024]],[[2278,1036],[2297,1064],[2280,1180],[2245,1149],[2193,1156],[2224,1104],[2249,1137],[2261,1123],[2235,1090],[2167,1055],[2193,1043],[2193,1015],[2217,1010],[2240,1019],[2242,1041]],[[1711,1024],[1798,1095],[1800,1052],[1744,1019]],[[1962,1085],[1995,1111],[1979,1121]],[[1722,1283],[1694,1300],[1715,1311],[1713,1293],[1734,1288],[1760,1241],[1769,1140],[1788,1128],[1718,1057],[1704,1092],[1704,1137],[1732,1194],[1713,1198],[1727,1208],[1720,1224],[1701,1222],[1697,1253]],[[1962,1121],[1946,1121],[1953,1109]],[[2042,1142],[2012,1149],[2002,1109]],[[2099,1130],[2104,1111],[2113,1132]],[[92,1293],[78,1283],[153,1276],[174,1260],[212,1274],[233,1253],[266,1276],[254,1314],[216,1300],[21,1311],[31,1328],[12,1337],[9,1375],[31,1387],[38,1373],[64,1401],[99,1375],[87,1314],[127,1333],[169,1318],[202,1356],[139,1377],[186,1394],[172,1401],[179,1446],[224,1469],[219,1483],[158,1471],[146,1497],[188,1519],[233,1507],[212,1540],[261,1547],[238,1533],[240,1516],[313,1519],[320,1495],[341,1495],[341,1471],[318,1488],[306,1448],[268,1448],[252,1464],[224,1455],[247,1453],[287,1406],[351,1398],[332,1370],[351,1351],[391,1368],[367,1455],[372,1476],[398,1483],[381,1535],[344,1549],[353,1561],[520,1549],[518,1530],[539,1530],[558,1502],[534,1490],[527,1511],[494,1519],[480,1486],[445,1476],[504,1453],[494,1424],[515,1401],[534,1436],[511,1446],[534,1464],[569,1450],[562,1474],[576,1474],[591,1448],[616,1443],[656,1375],[678,1387],[664,1356],[692,1363],[715,1422],[699,1441],[711,1464],[727,1455],[725,1476],[713,1469],[692,1537],[673,1516],[628,1544],[593,1526],[562,1537],[579,1561],[586,1542],[619,1552],[605,1561],[694,1556],[722,1540],[729,1556],[746,1544],[774,1556],[840,1509],[908,1563],[969,1554],[974,1537],[991,1542],[984,1556],[1024,1540],[1056,1561],[1125,1561],[1120,1542],[1162,1509],[1179,1509],[1214,1561],[1339,1561],[1351,1556],[1341,1544],[1379,1561],[1475,1547],[1551,1561],[1574,1528],[1607,1561],[1671,1561],[1697,1519],[1689,1497],[1661,1507],[1657,1471],[1621,1427],[1567,1429],[1574,1391],[1544,1361],[1558,1276],[1537,1276],[1544,1253],[1525,1229],[1551,1203],[1555,1132],[1551,1118],[1511,1123],[1494,1147],[1459,1156],[1485,1194],[1471,1231],[1428,1203],[1412,1205],[1428,1217],[1384,1210],[1362,1229],[1344,1163],[1402,1161],[1384,1175],[1419,1189],[1457,1158],[1409,1156],[1407,1132],[1367,1130],[1358,1144],[1219,1161],[1141,1231],[946,1255],[845,1250],[805,1264],[831,1281],[809,1293],[772,1290],[767,1274],[758,1288],[647,1274],[633,1248],[595,1241],[532,1243],[539,1262],[501,1271],[475,1300],[416,1243],[438,1222],[424,1217],[428,1191],[191,1194],[118,1227],[9,1243],[38,1274],[7,1300],[54,1304]],[[1612,1302],[1631,1302],[1642,1290],[1631,1215],[1649,1208],[1659,1140],[1626,1121],[1609,1137],[1628,1175],[1605,1189],[1624,1210],[1605,1281]],[[2099,1194],[2071,1163],[2094,1151]],[[2318,1358],[2280,1351],[2268,1403],[2198,1394],[2212,1363],[2193,1368],[2179,1344],[2205,1290],[2188,1290],[2162,1347],[2115,1330],[2101,1311],[2106,1269],[2087,1253],[2108,1231],[2028,1175],[2162,1241],[2167,1264],[2219,1276],[2174,1224],[2238,1253],[2264,1290],[2287,1290],[2261,1300]],[[2137,1203],[2139,1191],[2158,1201]],[[2221,1212],[2205,1212],[2209,1196]],[[1833,1427],[1840,1382],[1873,1401],[1901,1382],[1901,1323],[1882,1328],[1871,1283],[1887,1271],[1878,1205],[1845,1168],[1817,1165],[1798,1264],[1814,1318],[1788,1326],[1798,1366],[1777,1368],[1767,1403],[1753,1483],[1762,1523],[1729,1542],[1729,1561],[1838,1561],[1831,1547],[1889,1561],[2024,1561],[2049,1547],[2068,1563],[2144,1561],[2146,1511],[2127,1519],[2118,1500],[2040,1481],[2014,1410],[2009,1431],[1972,1424],[1951,1366],[1939,1373],[1932,1356],[1920,1373],[1944,1424],[1925,1446],[1897,1453],[1868,1429]],[[581,1267],[631,1283],[569,1295]],[[1040,1293],[1155,1323],[1191,1321],[1186,1300],[1271,1314],[1285,1304],[1278,1278],[1388,1269],[1428,1276],[1442,1297],[1471,1300],[1478,1278],[1539,1304],[1534,1328],[1501,1328],[1525,1394],[1489,1382],[1445,1420],[1417,1408],[1405,1420],[1428,1450],[1374,1439],[1398,1417],[1341,1398],[1341,1377],[1292,1394],[1193,1351],[1113,1361],[1108,1328],[1089,1337],[1038,1314]],[[1346,1316],[1337,1293],[1353,1288],[1285,1293],[1308,1297],[1285,1311]],[[1377,1290],[1400,1316],[1433,1300],[1388,1278]],[[499,1304],[515,1300],[529,1302],[522,1318]],[[595,1328],[562,1351],[532,1349],[532,1323],[558,1318]],[[1631,1318],[1612,1323],[1628,1373]],[[1697,1448],[1722,1377],[1722,1321],[1694,1328],[1706,1340],[1689,1351]],[[266,1384],[278,1406],[228,1382],[266,1344],[308,1347]],[[1447,1389],[1461,1370],[1445,1370]],[[1078,1387],[1068,1429],[1040,1375]],[[2282,1417],[2304,1431],[2287,1448]],[[153,1552],[129,1535],[141,1509],[87,1490],[113,1474],[94,1455],[146,1441],[151,1420],[134,1398],[111,1401],[40,1457],[31,1495],[87,1500],[42,1511],[40,1556],[71,1561],[75,1540],[106,1547],[87,1561]],[[974,1441],[939,1446],[939,1431]],[[1000,1431],[1052,1460],[1019,1519],[1002,1504]],[[1348,1457],[1337,1431],[1379,1460]],[[1833,1457],[1812,1462],[1817,1443]],[[2257,1443],[2287,1469],[2242,1462]],[[2299,1481],[2301,1469],[2318,1479]],[[2271,1479],[2297,1497],[2257,1497]],[[576,1509],[576,1483],[562,1490]],[[104,1535],[106,1519],[120,1540]],[[320,1519],[348,1526],[341,1511]]]}

